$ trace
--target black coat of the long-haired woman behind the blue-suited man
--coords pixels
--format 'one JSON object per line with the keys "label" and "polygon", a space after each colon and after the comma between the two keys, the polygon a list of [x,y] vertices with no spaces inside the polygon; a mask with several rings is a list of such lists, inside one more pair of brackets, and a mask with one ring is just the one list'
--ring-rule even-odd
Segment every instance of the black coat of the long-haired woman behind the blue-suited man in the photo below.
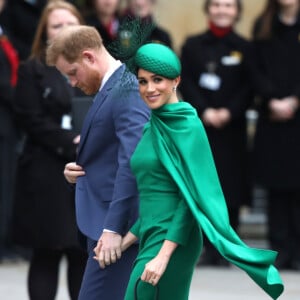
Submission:
{"label": "black coat of the long-haired woman behind the blue-suited man", "polygon": [[16,243],[77,245],[74,191],[63,176],[64,165],[75,159],[76,134],[61,127],[62,116],[71,111],[71,96],[67,80],[55,68],[37,60],[20,65],[14,110],[25,144],[17,169]]}

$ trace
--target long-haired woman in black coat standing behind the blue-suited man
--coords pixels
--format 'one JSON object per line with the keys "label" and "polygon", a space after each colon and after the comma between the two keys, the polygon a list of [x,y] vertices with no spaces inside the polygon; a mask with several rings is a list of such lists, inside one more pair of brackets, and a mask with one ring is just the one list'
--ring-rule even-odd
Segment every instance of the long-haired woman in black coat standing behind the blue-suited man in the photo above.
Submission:
{"label": "long-haired woman in black coat standing behind the blue-suited man", "polygon": [[87,258],[78,241],[74,191],[63,176],[64,165],[75,158],[79,142],[69,117],[75,91],[67,78],[45,63],[46,47],[59,31],[82,22],[72,4],[49,2],[31,56],[19,67],[14,113],[25,138],[17,168],[13,236],[17,245],[32,249],[31,300],[55,299],[63,257],[70,299],[77,299]]}

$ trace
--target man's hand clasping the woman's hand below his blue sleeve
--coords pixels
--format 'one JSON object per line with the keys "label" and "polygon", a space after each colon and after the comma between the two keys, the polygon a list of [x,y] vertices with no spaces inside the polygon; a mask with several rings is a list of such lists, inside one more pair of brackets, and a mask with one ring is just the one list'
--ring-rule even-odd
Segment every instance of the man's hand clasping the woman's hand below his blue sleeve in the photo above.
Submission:
{"label": "man's hand clasping the woman's hand below his blue sleeve", "polygon": [[121,258],[122,236],[114,232],[103,232],[94,248],[96,259],[100,268],[104,269]]}

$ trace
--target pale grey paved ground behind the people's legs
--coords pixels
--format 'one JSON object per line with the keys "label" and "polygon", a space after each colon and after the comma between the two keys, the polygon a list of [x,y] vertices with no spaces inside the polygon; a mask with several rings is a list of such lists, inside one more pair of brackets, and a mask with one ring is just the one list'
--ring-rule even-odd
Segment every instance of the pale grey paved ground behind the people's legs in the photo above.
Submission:
{"label": "pale grey paved ground behind the people's legs", "polygon": [[[0,299],[28,300],[25,262],[0,264]],[[69,300],[66,290],[65,263],[61,265],[56,300]],[[300,272],[282,272],[285,293],[279,300],[300,299]],[[189,300],[270,300],[249,277],[235,267],[197,268]],[[87,299],[88,300],[88,299]],[[165,299],[171,300],[171,299]]]}

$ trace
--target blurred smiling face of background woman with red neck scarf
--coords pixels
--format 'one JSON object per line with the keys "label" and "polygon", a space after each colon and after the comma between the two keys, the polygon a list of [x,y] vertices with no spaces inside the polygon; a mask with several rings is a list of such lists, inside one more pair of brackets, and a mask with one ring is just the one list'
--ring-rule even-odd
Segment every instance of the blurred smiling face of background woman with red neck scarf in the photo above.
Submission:
{"label": "blurred smiling face of background woman with red neck scarf", "polygon": [[234,25],[238,18],[236,0],[211,0],[208,5],[208,17],[217,27],[225,28]]}

